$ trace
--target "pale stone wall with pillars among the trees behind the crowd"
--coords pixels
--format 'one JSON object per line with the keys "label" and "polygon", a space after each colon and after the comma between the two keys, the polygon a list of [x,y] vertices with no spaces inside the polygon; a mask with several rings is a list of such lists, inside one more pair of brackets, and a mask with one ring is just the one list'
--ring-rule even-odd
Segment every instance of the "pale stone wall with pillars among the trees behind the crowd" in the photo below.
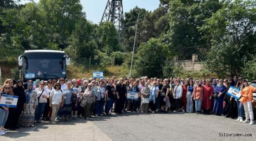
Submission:
{"label": "pale stone wall with pillars among the trees behind the crowd", "polygon": [[203,66],[203,63],[198,61],[197,54],[192,54],[192,60],[178,61],[178,56],[174,56],[173,60],[175,65],[181,66],[187,71],[200,71]]}

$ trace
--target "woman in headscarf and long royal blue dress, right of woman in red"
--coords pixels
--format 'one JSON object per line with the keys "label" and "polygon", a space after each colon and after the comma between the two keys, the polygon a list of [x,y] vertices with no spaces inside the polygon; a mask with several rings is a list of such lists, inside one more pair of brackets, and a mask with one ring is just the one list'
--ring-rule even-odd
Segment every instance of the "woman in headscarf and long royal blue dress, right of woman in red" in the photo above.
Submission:
{"label": "woman in headscarf and long royal blue dress, right of woman in red", "polygon": [[219,85],[217,85],[215,92],[213,113],[217,116],[221,116],[223,111],[223,100],[226,93],[226,86],[223,85],[223,80],[219,80]]}

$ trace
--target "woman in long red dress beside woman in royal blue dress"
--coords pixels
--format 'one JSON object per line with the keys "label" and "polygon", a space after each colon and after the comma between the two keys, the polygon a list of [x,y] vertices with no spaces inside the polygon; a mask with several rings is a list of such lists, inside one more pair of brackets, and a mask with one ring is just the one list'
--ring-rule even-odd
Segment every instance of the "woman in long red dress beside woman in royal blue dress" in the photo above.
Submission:
{"label": "woman in long red dress beside woman in royal blue dress", "polygon": [[204,85],[204,97],[202,101],[202,109],[204,110],[204,114],[210,115],[211,110],[211,101],[213,99],[213,87],[211,86],[210,80],[206,80],[206,84]]}

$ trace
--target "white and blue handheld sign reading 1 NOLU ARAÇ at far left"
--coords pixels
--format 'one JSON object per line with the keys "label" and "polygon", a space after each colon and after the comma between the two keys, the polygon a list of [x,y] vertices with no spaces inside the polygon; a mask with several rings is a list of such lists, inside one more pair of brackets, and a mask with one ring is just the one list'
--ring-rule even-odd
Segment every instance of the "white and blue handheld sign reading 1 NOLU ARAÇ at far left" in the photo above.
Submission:
{"label": "white and blue handheld sign reading 1 NOLU ARA\u00c7 at far left", "polygon": [[18,98],[19,96],[10,96],[7,94],[3,94],[0,101],[0,106],[16,108]]}

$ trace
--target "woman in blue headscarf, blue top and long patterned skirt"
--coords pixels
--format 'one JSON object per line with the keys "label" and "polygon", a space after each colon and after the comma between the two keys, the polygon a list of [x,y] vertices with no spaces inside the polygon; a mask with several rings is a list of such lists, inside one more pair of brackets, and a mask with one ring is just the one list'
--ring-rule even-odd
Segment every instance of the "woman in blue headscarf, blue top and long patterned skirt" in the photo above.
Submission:
{"label": "woman in blue headscarf, blue top and long patterned skirt", "polygon": [[23,127],[34,127],[35,109],[37,107],[37,94],[33,90],[33,84],[28,83],[28,89],[25,90],[26,105],[20,116],[20,125]]}

